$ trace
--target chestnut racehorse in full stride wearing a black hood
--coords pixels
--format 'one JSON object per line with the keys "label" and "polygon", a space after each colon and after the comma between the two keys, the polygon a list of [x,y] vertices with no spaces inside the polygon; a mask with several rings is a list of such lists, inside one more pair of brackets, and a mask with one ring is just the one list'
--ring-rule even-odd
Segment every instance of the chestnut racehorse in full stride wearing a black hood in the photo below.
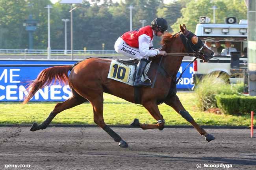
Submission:
{"label": "chestnut racehorse in full stride wearing a black hood", "polygon": [[[204,62],[208,62],[213,57],[213,51],[204,46],[200,38],[187,30],[185,24],[180,25],[180,31],[174,35],[165,33],[161,40],[162,50],[167,52],[167,56],[156,56],[152,61],[147,73],[150,79],[157,76],[154,88],[150,86],[141,87],[141,104],[156,119],[156,124],[142,124],[138,119],[134,119],[132,126],[146,129],[158,128],[163,130],[165,120],[161,115],[158,104],[164,102],[171,106],[178,114],[190,122],[194,128],[203,135],[206,141],[215,139],[213,135],[207,133],[191,117],[189,112],[182,106],[180,99],[176,95],[176,75],[185,55],[193,53]],[[160,59],[161,58],[161,59]],[[162,60],[162,62],[160,62]],[[106,131],[121,148],[128,147],[117,133],[105,124],[103,118],[103,93],[115,95],[126,101],[136,103],[134,97],[134,87],[122,82],[108,79],[108,71],[111,60],[102,58],[88,58],[79,62],[76,66],[54,66],[46,68],[38,77],[30,82],[28,95],[24,98],[26,104],[35,93],[52,82],[62,82],[69,84],[72,96],[64,102],[57,103],[52,112],[41,124],[33,123],[31,131],[45,129],[54,117],[63,110],[72,108],[85,101],[89,101],[93,107],[94,122]],[[161,68],[165,74],[158,72]],[[70,74],[68,75],[68,72]],[[125,92],[125,93],[124,93]]]}

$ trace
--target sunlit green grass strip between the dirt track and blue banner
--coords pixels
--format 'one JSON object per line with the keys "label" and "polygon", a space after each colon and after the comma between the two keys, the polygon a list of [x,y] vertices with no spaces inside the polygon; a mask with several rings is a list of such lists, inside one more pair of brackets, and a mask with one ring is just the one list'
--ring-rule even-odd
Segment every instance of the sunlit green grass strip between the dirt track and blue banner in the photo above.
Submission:
{"label": "sunlit green grass strip between the dirt track and blue banner", "polygon": [[[249,126],[249,115],[216,115],[202,112],[195,106],[195,93],[178,92],[182,104],[200,125]],[[0,102],[0,124],[31,124],[42,122],[57,102]],[[166,125],[190,125],[184,118],[166,104],[159,105]],[[156,122],[144,107],[104,93],[104,120],[111,125],[128,125],[134,118],[141,123]],[[52,124],[95,124],[89,102],[59,113]]]}

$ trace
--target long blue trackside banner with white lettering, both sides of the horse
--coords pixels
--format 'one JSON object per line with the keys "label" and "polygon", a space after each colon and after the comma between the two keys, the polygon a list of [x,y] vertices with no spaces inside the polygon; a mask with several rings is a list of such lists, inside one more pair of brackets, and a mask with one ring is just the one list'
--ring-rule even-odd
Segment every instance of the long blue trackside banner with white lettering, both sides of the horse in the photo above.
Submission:
{"label": "long blue trackside banner with white lettering, both sides of the horse", "polygon": [[[49,61],[46,61],[46,63]],[[71,65],[76,61],[61,62],[55,61],[54,64]],[[15,61],[12,61],[15,63]],[[46,68],[49,68],[51,64],[45,64],[38,61],[34,65],[21,65],[22,62],[17,62],[19,65],[9,65],[5,63],[0,65],[0,101],[23,101],[24,95],[28,94],[26,90],[28,82],[37,78],[37,75]],[[17,64],[15,63],[15,64]],[[28,61],[23,60],[23,64],[27,64]],[[182,65],[178,71],[177,77],[186,68],[189,62],[182,62]],[[30,63],[32,64],[32,62]],[[193,66],[189,66],[185,73],[183,73],[183,79],[177,84],[178,89],[190,89],[193,87],[191,84],[191,75],[193,73]],[[37,91],[34,97],[30,101],[65,101],[72,95],[69,85],[50,85]]]}

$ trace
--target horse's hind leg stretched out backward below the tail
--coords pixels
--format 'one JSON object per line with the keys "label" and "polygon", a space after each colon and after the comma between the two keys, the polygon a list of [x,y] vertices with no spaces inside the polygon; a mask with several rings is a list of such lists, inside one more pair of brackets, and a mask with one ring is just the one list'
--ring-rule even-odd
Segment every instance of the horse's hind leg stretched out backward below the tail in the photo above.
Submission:
{"label": "horse's hind leg stretched out backward below the tail", "polygon": [[43,130],[47,128],[47,126],[50,124],[52,119],[54,117],[62,112],[63,110],[72,108],[74,106],[77,106],[79,104],[82,104],[85,102],[86,99],[84,99],[82,96],[78,95],[75,91],[73,91],[73,96],[67,99],[66,101],[62,103],[57,103],[56,106],[54,107],[54,110],[50,113],[50,115],[47,117],[45,121],[43,121],[41,124],[37,124],[36,122],[33,123],[32,127],[30,128],[30,131],[34,132],[36,130]]}

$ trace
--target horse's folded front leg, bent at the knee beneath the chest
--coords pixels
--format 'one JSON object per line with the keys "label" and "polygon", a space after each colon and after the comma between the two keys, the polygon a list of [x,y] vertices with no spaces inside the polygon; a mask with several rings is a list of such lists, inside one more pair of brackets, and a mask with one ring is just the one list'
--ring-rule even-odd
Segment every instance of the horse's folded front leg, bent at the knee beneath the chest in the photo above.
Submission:
{"label": "horse's folded front leg, bent at the knee beneath the chest", "polygon": [[146,104],[143,104],[143,106],[148,110],[148,112],[158,121],[156,124],[141,124],[139,123],[138,119],[134,119],[134,122],[132,122],[130,125],[135,127],[140,127],[144,130],[146,129],[159,129],[163,130],[165,120],[163,119],[163,116],[161,115],[158,105],[156,102],[147,102]]}

